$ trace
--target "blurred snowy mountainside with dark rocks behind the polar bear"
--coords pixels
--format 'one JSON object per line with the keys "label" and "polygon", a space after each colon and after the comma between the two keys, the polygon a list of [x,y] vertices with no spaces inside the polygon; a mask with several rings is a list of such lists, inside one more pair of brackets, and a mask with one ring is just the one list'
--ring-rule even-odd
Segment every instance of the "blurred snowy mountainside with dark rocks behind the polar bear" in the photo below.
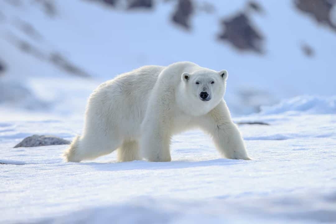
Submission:
{"label": "blurred snowy mountainside with dark rocks behind the polar bear", "polygon": [[82,115],[99,83],[183,60],[228,70],[234,116],[332,97],[336,1],[0,1],[3,113]]}

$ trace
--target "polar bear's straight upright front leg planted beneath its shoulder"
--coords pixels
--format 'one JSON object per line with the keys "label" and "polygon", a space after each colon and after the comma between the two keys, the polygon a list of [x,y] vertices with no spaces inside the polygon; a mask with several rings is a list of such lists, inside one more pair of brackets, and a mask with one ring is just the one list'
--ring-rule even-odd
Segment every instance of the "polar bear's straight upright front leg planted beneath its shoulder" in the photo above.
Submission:
{"label": "polar bear's straight upright front leg planted beneath its shoulder", "polygon": [[[156,116],[155,116],[156,117]],[[167,126],[167,125],[166,125]],[[150,162],[170,162],[170,135],[168,127],[159,119],[152,117],[142,124],[140,151]]]}

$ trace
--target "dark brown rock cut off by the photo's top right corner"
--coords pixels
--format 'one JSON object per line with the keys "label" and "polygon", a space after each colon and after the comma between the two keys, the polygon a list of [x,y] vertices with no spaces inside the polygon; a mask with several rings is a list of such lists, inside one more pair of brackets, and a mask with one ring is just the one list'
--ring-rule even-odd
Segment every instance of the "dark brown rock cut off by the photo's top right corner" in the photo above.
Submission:
{"label": "dark brown rock cut off by the photo's top right corner", "polygon": [[336,24],[331,20],[331,10],[335,1],[330,0],[294,0],[297,9],[307,13],[319,23],[325,24],[336,31]]}

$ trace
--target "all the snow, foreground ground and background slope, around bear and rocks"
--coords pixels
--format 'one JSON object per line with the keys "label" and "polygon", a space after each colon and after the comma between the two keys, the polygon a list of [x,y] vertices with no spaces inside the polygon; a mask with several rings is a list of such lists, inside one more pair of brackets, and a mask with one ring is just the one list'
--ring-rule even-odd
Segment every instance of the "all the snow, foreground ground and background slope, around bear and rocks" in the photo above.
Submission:
{"label": "all the snow, foreground ground and background slope, around bear and rocks", "polygon": [[[188,32],[168,19],[173,1],[125,12],[55,0],[53,18],[36,2],[8,2],[0,2],[0,59],[8,68],[0,77],[0,223],[336,223],[335,34],[292,1],[259,1],[266,13],[251,15],[266,36],[264,56],[215,40],[218,19],[245,0],[209,1],[215,13],[196,14]],[[41,39],[22,33],[21,20]],[[18,49],[17,39],[42,59]],[[316,55],[305,57],[301,43]],[[55,52],[92,77],[54,66]],[[239,126],[252,161],[220,158],[199,130],[173,137],[169,163],[116,163],[115,152],[64,163],[66,145],[13,148],[34,134],[72,140],[102,81],[180,60],[228,70],[224,98],[234,121],[269,124]]]}

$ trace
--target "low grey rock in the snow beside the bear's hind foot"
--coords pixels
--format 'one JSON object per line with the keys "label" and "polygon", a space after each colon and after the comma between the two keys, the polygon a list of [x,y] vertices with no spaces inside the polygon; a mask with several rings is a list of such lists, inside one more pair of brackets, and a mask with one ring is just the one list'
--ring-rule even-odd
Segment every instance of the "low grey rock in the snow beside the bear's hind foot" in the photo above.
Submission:
{"label": "low grey rock in the snow beside the bear's hind foot", "polygon": [[14,146],[17,147],[36,147],[43,145],[67,145],[70,141],[59,138],[53,135],[33,135],[25,138],[20,143]]}

